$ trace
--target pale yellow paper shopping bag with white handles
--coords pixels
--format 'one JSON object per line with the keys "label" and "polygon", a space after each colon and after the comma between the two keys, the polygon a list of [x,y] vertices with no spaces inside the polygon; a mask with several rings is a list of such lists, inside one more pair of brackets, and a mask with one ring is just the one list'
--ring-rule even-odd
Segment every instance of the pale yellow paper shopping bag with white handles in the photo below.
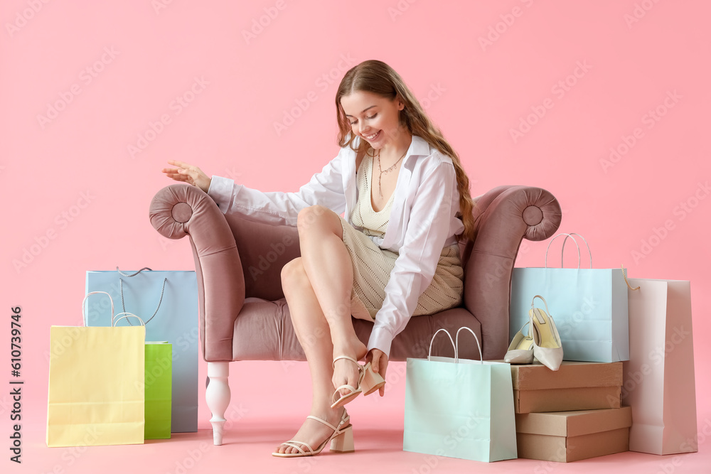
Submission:
{"label": "pale yellow paper shopping bag with white handles", "polygon": [[83,326],[50,327],[50,447],[144,442],[146,328],[87,327],[84,303],[95,293],[104,292],[82,301]]}

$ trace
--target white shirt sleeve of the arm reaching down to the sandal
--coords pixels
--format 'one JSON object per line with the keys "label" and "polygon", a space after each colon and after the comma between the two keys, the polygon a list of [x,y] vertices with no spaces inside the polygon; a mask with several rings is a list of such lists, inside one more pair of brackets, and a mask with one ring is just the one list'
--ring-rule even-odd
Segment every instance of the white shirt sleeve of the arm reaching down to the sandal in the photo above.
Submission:
{"label": "white shirt sleeve of the arm reaching down to the sandal", "polygon": [[415,313],[419,296],[432,282],[449,237],[453,206],[458,202],[453,193],[456,193],[456,171],[451,162],[442,160],[422,179],[417,190],[405,242],[385,285],[383,306],[375,315],[368,351],[378,348],[390,355],[392,339],[405,329]]}

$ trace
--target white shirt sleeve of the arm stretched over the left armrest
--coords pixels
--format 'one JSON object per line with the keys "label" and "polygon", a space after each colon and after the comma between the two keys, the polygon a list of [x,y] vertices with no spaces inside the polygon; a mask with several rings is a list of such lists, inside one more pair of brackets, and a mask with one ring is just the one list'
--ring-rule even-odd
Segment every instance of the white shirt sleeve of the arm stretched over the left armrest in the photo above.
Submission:
{"label": "white shirt sleeve of the arm stretched over the left armrest", "polygon": [[336,158],[326,163],[321,172],[314,174],[311,181],[301,186],[296,193],[262,192],[235,184],[230,178],[213,176],[208,195],[215,200],[223,214],[239,212],[260,222],[296,226],[299,211],[311,205],[323,205],[338,214],[346,210],[342,166],[343,159],[347,158],[348,148],[344,147]]}

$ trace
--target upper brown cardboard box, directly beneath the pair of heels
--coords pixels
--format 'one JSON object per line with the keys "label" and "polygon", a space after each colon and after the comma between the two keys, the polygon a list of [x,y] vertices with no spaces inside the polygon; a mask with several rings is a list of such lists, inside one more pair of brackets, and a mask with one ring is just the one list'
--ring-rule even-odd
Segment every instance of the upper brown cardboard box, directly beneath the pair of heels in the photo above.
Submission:
{"label": "upper brown cardboard box, directly beneath the pair of heels", "polygon": [[619,408],[622,362],[564,360],[556,371],[538,360],[511,364],[516,413]]}

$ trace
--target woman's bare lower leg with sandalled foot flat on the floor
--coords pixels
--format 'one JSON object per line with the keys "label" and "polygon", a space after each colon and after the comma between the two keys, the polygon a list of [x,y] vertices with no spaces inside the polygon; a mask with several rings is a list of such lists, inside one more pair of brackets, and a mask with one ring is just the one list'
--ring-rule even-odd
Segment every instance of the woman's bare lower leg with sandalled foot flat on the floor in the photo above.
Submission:
{"label": "woman's bare lower leg with sandalled foot flat on the floor", "polygon": [[[331,333],[326,322],[326,317],[321,311],[321,305],[316,299],[314,289],[306,277],[301,257],[297,257],[282,269],[282,287],[287,298],[289,313],[292,317],[296,338],[299,338],[301,347],[304,348],[306,360],[311,371],[311,386],[314,397],[311,402],[309,414],[318,416],[328,423],[336,426],[341,420],[343,407],[331,408],[331,395],[333,394],[333,368],[331,358],[333,343]],[[324,440],[333,434],[333,430],[319,421],[306,419],[299,431],[291,438],[305,441],[317,449]],[[304,451],[309,451],[306,446],[301,446]],[[299,453],[291,446],[277,446],[274,450],[279,453]]]}

